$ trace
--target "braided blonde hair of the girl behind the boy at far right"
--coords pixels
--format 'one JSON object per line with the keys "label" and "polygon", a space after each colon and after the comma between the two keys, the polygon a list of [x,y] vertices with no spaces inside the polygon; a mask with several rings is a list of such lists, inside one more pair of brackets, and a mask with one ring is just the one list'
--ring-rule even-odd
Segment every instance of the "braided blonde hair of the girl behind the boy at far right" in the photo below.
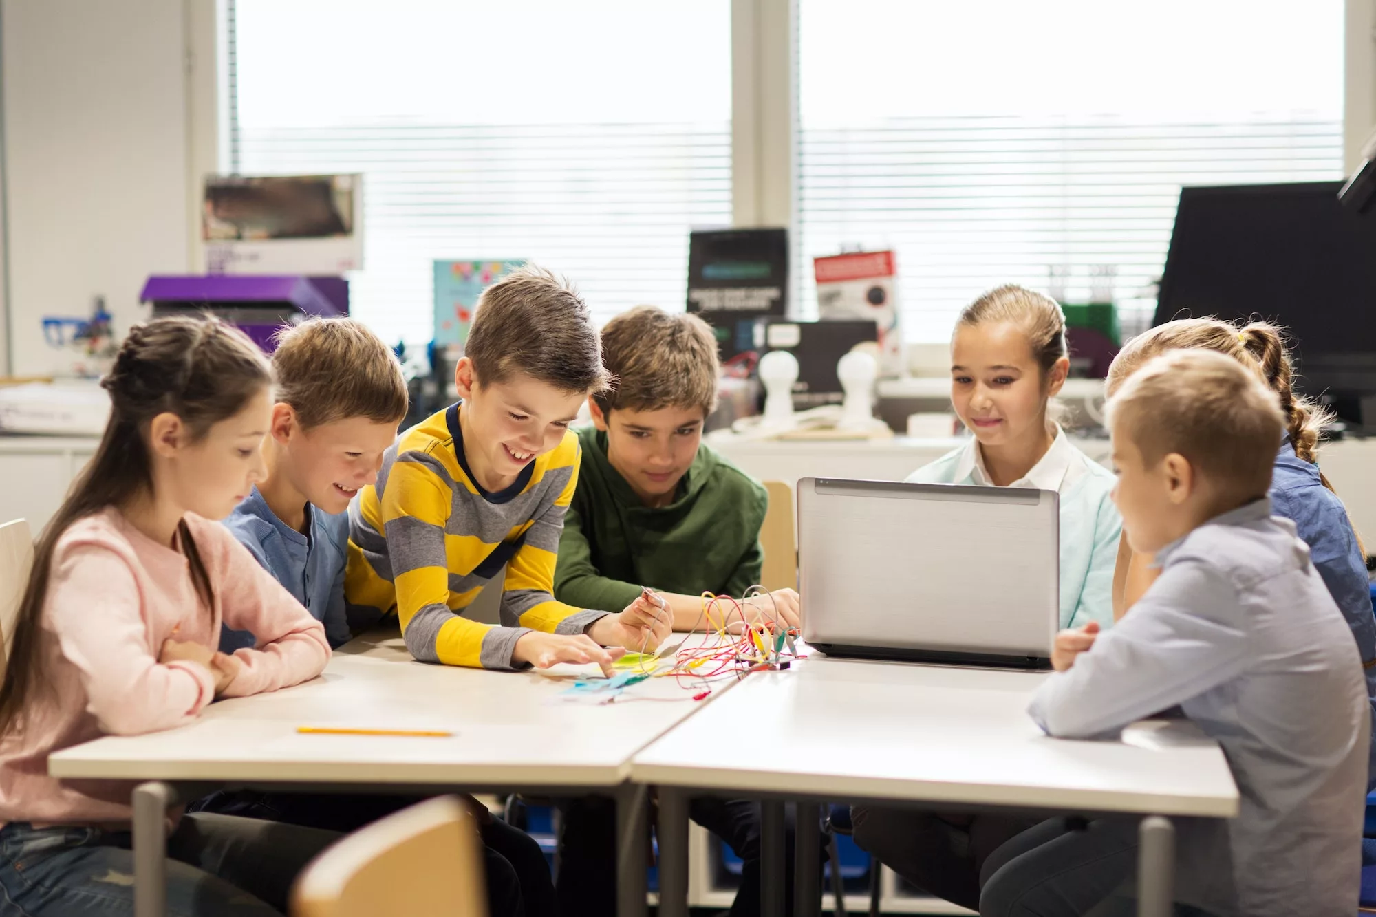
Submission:
{"label": "braided blonde hair of the girl behind the boy at far right", "polygon": [[[1108,392],[1112,395],[1143,362],[1167,350],[1212,350],[1256,370],[1276,392],[1285,412],[1285,431],[1295,454],[1309,463],[1318,461],[1320,432],[1331,414],[1292,388],[1295,370],[1285,347],[1285,333],[1270,322],[1244,326],[1218,318],[1181,318],[1157,325],[1130,340],[1109,366]],[[1324,485],[1333,487],[1324,481]]]}

